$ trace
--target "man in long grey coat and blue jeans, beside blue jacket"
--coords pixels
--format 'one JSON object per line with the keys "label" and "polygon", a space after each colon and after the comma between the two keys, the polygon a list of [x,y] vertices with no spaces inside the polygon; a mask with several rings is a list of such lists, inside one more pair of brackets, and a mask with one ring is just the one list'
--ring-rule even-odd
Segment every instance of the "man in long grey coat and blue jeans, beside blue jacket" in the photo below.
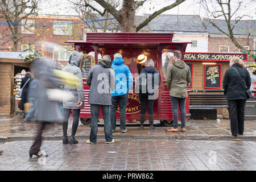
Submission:
{"label": "man in long grey coat and blue jeans, beside blue jacket", "polygon": [[112,90],[115,89],[115,72],[111,68],[111,57],[103,56],[102,60],[94,65],[87,76],[86,83],[90,86],[89,104],[91,112],[90,139],[89,144],[97,143],[98,114],[100,107],[104,119],[104,132],[106,143],[114,143],[110,125],[110,106],[112,100]]}

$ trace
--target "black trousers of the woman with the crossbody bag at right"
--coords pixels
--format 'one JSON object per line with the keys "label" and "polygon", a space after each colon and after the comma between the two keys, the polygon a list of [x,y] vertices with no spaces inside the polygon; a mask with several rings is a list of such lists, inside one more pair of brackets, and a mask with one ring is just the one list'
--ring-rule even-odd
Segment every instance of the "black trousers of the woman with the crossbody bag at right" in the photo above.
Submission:
{"label": "black trousers of the woman with the crossbody bag at right", "polygon": [[229,118],[231,133],[237,136],[237,133],[243,134],[245,119],[245,102],[246,100],[229,100]]}

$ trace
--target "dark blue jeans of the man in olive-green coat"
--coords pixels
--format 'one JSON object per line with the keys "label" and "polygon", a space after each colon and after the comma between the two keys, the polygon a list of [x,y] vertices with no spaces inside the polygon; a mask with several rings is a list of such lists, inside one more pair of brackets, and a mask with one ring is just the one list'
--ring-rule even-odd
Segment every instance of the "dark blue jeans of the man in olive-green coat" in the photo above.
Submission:
{"label": "dark blue jeans of the man in olive-green coat", "polygon": [[172,105],[172,119],[174,120],[174,128],[178,127],[178,103],[180,107],[180,121],[181,121],[181,129],[185,127],[186,120],[186,110],[185,110],[185,101],[186,98],[178,98],[170,96],[171,105]]}

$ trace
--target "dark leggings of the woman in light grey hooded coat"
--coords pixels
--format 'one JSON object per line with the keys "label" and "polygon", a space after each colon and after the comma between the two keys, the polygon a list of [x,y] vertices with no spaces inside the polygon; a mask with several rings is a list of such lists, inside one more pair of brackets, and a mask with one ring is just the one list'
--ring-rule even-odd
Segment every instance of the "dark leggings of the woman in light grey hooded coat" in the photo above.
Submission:
{"label": "dark leggings of the woman in light grey hooded coat", "polygon": [[[62,129],[63,129],[63,135],[67,136],[68,132],[68,119],[71,114],[71,109],[65,109],[64,108],[64,119],[62,123]],[[79,114],[80,109],[74,109],[73,111],[73,124],[72,124],[72,136],[76,135],[76,130],[79,125]]]}

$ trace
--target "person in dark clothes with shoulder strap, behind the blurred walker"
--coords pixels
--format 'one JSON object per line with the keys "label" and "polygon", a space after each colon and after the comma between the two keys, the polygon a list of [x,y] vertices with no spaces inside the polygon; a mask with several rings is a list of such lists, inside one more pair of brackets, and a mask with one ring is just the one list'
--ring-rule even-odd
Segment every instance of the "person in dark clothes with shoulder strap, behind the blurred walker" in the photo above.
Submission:
{"label": "person in dark clothes with shoulder strap, behind the blurred walker", "polygon": [[[30,79],[30,80],[28,80],[28,79]],[[27,82],[27,80],[28,80],[28,82]],[[25,77],[22,78],[22,82],[21,82],[21,85],[20,85],[20,88],[23,88],[23,86],[27,82],[27,84],[22,89],[22,96],[21,96],[22,100],[20,101],[20,106],[19,106],[20,110],[24,110],[24,104],[28,102],[28,97],[27,97],[28,86],[30,85],[31,81],[32,81],[31,73],[30,72],[26,72]]]}

